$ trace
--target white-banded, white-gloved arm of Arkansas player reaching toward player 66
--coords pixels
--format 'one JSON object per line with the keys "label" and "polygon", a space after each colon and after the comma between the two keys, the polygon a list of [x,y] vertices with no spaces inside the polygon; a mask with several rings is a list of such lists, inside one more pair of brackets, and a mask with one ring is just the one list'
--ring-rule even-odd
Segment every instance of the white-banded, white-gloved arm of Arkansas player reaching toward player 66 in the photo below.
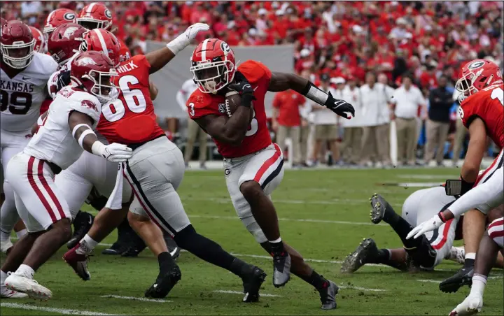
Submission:
{"label": "white-banded, white-gloved arm of Arkansas player reaching toward player 66", "polygon": [[73,138],[78,141],[80,147],[93,155],[104,157],[112,162],[124,162],[132,156],[131,148],[126,145],[111,143],[105,145],[98,141],[91,126],[93,120],[89,115],[73,111],[69,115],[69,127]]}

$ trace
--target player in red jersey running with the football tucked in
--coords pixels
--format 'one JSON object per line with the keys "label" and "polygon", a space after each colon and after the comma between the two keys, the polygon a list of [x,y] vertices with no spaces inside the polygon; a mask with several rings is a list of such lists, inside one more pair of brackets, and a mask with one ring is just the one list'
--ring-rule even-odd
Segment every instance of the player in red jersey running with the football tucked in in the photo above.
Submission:
{"label": "player in red jersey running with the football tucked in", "polygon": [[[230,46],[217,38],[200,43],[191,62],[190,71],[198,89],[186,103],[188,113],[214,138],[225,158],[226,182],[237,215],[255,240],[272,254],[274,286],[288,282],[292,264],[295,275],[318,289],[322,308],[336,308],[335,283],[318,275],[296,250],[281,240],[269,194],[283,178],[283,157],[269,136],[264,97],[268,91],[293,89],[346,118],[354,115],[353,106],[334,99],[300,76],[272,73],[260,62],[249,60],[237,67]],[[230,89],[241,95],[241,105],[232,115],[225,103]]]}

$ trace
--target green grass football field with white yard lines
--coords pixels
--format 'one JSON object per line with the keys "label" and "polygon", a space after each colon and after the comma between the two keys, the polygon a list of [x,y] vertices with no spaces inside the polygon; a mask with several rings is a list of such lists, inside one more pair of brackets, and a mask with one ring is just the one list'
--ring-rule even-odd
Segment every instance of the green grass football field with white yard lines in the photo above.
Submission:
{"label": "green grass football field with white yard lines", "polygon": [[[182,280],[162,301],[143,301],[158,274],[149,250],[138,258],[101,254],[91,257],[92,279],[84,282],[62,261],[64,249],[52,257],[35,279],[52,290],[48,302],[2,300],[1,315],[448,315],[469,292],[444,294],[438,283],[453,275],[458,264],[445,261],[436,271],[401,273],[386,266],[365,266],[353,275],[339,272],[341,261],[363,238],[378,247],[401,247],[386,224],[370,222],[368,198],[382,194],[400,213],[402,201],[419,182],[457,178],[459,169],[307,170],[286,171],[272,198],[281,236],[318,273],[341,287],[337,310],[320,310],[318,293],[293,277],[281,289],[272,285],[272,261],[237,220],[223,171],[187,172],[179,194],[195,229],[226,250],[268,274],[259,303],[241,303],[241,280],[232,273],[182,252]],[[406,182],[407,187],[384,185]],[[114,232],[103,243],[113,243]],[[461,245],[460,242],[456,245]],[[2,257],[3,259],[4,257]],[[484,293],[483,315],[504,314],[503,271],[493,269]]]}

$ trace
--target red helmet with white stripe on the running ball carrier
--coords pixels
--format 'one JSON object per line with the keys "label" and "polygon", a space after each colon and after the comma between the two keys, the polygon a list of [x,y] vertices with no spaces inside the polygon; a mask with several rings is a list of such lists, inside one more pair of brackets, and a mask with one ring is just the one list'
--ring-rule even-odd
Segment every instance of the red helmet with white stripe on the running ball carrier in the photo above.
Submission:
{"label": "red helmet with white stripe on the running ball carrier", "polygon": [[216,94],[235,78],[235,53],[228,43],[207,38],[197,45],[190,71],[201,92]]}

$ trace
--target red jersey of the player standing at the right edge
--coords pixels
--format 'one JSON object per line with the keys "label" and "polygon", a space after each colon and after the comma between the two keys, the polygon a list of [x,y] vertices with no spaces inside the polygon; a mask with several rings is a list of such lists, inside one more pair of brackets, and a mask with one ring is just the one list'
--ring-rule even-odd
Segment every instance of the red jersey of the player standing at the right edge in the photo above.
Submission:
{"label": "red jersey of the player standing at the right edge", "polygon": [[493,143],[504,148],[504,85],[491,85],[462,101],[458,112],[465,127],[479,117]]}

